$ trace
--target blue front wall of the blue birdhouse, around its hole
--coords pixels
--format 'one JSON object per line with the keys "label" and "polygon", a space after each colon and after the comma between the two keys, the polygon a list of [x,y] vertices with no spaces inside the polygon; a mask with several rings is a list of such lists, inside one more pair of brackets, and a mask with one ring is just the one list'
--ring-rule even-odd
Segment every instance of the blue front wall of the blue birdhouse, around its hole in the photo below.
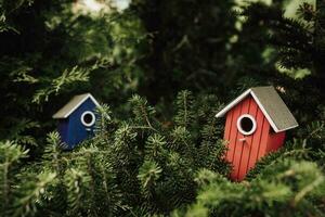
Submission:
{"label": "blue front wall of the blue birdhouse, around its hole", "polygon": [[[86,100],[73,114],[69,116],[68,144],[73,149],[76,144],[87,139],[93,133],[93,127],[86,127],[81,123],[81,115],[86,111],[94,112],[96,105],[90,100]],[[89,130],[87,130],[89,129]]]}

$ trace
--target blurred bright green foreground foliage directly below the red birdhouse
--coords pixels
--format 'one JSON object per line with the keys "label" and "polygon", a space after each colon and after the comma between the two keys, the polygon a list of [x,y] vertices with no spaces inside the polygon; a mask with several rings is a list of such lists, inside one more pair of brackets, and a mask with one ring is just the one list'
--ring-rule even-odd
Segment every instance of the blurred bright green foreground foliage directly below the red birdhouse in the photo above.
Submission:
{"label": "blurred bright green foreground foliage directly below the red birdhouse", "polygon": [[[318,192],[324,190],[324,175],[313,163],[281,161],[262,171],[260,178],[243,183],[229,182],[203,169],[196,181],[200,190],[185,216],[318,216],[322,213],[314,203],[322,201]],[[309,201],[310,196],[313,201]]]}

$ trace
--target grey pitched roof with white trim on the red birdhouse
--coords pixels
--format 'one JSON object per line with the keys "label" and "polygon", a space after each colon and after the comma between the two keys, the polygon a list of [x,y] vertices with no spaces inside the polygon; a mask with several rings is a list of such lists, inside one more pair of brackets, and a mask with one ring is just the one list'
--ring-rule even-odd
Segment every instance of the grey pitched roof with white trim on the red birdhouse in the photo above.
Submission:
{"label": "grey pitched roof with white trim on the red birdhouse", "polygon": [[216,117],[222,117],[247,95],[251,95],[275,132],[298,127],[294,115],[272,86],[255,87],[246,90],[221,110]]}

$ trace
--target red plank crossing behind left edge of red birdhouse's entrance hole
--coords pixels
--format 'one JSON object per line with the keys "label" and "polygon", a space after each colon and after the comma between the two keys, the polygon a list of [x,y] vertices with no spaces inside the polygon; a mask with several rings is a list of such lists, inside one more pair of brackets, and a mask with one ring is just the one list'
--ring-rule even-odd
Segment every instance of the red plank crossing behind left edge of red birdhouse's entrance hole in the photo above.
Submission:
{"label": "red plank crossing behind left edge of red birdhouse's entrance hole", "polygon": [[[249,102],[250,102],[250,98],[246,98],[245,100],[242,101],[242,111],[240,111],[240,115],[243,114],[247,114],[249,111]],[[233,119],[233,125],[236,125],[236,129],[237,129],[237,119]],[[242,135],[238,130],[237,130],[237,137],[236,137],[236,145],[235,145],[235,152],[234,152],[234,157],[233,157],[233,170],[231,174],[231,177],[234,180],[239,180],[238,178],[238,174],[239,174],[239,168],[240,168],[240,161],[242,161],[242,154],[243,154],[243,146],[245,145],[245,143],[243,141],[239,141],[239,139],[245,138],[244,135]]]}

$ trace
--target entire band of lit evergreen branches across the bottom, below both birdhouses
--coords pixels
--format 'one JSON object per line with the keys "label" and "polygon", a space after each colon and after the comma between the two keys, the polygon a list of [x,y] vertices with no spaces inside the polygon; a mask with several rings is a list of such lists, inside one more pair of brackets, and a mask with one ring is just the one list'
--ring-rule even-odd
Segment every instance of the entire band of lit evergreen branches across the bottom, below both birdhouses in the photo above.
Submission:
{"label": "entire band of lit evergreen branches across the bottom, below both birdhouses", "polygon": [[[112,119],[109,107],[103,105],[98,111],[101,117],[96,136],[74,152],[62,152],[58,133],[49,133],[41,165],[35,162],[25,169],[22,165],[22,171],[11,175],[18,188],[6,193],[16,201],[8,213],[18,216],[321,215],[324,174],[311,161],[322,159],[317,157],[318,150],[306,141],[322,139],[324,125],[311,124],[298,133],[309,138],[287,142],[285,149],[263,158],[246,181],[231,182],[223,159],[225,145],[216,136],[219,124],[213,119],[204,122],[208,111],[220,106],[211,99],[216,98],[193,95],[192,118],[179,115],[184,106],[190,107],[183,104],[176,111],[174,126],[167,128],[159,127],[162,124],[157,119],[158,114],[152,112],[155,108],[143,98],[132,97],[133,115],[127,122]],[[202,101],[206,103],[203,105]],[[205,123],[202,130],[193,133],[202,122]],[[154,123],[152,128],[148,123]],[[178,123],[187,123],[188,127]],[[6,142],[8,145],[13,144]],[[13,154],[17,155],[14,161],[25,155],[20,153]],[[21,176],[27,177],[27,181],[22,182]],[[61,208],[56,210],[56,206]]]}

